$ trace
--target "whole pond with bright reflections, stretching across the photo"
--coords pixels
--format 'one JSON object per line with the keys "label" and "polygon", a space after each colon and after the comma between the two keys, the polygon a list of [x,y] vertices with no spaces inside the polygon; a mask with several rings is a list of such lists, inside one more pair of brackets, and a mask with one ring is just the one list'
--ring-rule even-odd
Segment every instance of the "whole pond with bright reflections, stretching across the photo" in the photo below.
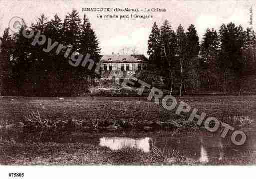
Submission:
{"label": "whole pond with bright reflections, stretching across the photo", "polygon": [[[187,158],[197,164],[255,164],[256,132],[248,132],[248,139],[242,146],[234,145],[229,138],[220,134],[194,132],[2,132],[1,140],[15,143],[85,143],[111,151],[132,148],[147,154],[158,152],[170,159],[173,156]],[[129,154],[128,154],[129,155]],[[129,156],[126,156],[129,157]]]}

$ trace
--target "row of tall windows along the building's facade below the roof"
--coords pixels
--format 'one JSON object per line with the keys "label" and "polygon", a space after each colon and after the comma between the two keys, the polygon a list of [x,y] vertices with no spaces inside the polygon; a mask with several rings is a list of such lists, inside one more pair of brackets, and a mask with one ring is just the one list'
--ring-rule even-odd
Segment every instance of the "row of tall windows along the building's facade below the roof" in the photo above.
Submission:
{"label": "row of tall windows along the building's facade below the roof", "polygon": [[114,64],[114,69],[113,69],[113,64],[109,63],[108,66],[106,63],[103,63],[103,70],[104,71],[111,71],[111,70],[122,70],[122,71],[129,71],[129,70],[146,70],[146,65],[138,63],[137,64],[137,68],[136,68],[136,64],[132,63],[132,64],[123,64],[121,63],[120,67],[119,67],[119,63],[115,63]]}

